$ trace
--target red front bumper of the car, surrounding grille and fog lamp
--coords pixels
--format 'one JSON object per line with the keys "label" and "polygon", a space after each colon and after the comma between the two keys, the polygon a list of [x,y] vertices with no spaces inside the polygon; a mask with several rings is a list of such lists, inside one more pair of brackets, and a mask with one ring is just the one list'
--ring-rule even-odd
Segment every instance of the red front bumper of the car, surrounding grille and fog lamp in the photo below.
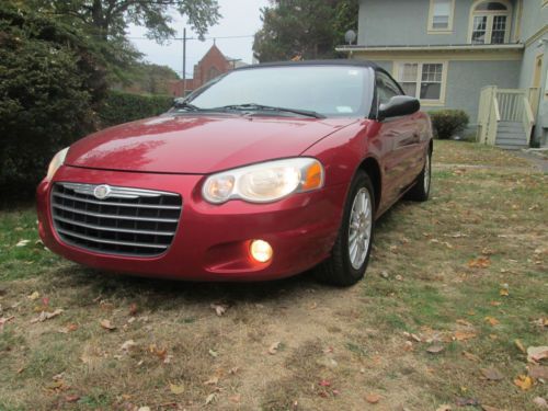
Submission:
{"label": "red front bumper of the car, surrounding grille and fog lamp", "polygon": [[[292,195],[272,204],[201,197],[203,175],[151,174],[61,167],[37,189],[38,231],[55,253],[83,265],[149,277],[192,281],[265,281],[298,274],[329,256],[340,227],[347,185]],[[171,247],[155,258],[102,254],[62,242],[53,228],[50,190],[56,181],[110,184],[181,194],[183,210]],[[274,255],[258,263],[252,239],[269,241]]]}

